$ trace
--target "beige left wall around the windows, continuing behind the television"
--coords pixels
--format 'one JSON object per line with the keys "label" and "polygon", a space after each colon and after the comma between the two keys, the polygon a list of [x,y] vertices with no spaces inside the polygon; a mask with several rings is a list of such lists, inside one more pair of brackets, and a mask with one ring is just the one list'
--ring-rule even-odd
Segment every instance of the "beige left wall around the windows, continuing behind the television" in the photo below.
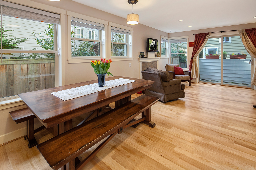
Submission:
{"label": "beige left wall around the windows, continuing behind the television", "polygon": [[[35,7],[34,3],[28,3],[28,0],[9,0],[10,2],[16,2],[19,4],[32,4],[33,7]],[[109,14],[107,12],[82,5],[79,3],[76,3],[71,0],[61,0],[59,2],[52,2],[52,1],[41,1],[41,0],[34,0],[34,2],[49,5],[52,7],[76,12],[79,14],[87,15],[90,17],[98,18],[101,20],[117,23],[120,25],[125,25],[128,27],[132,27],[134,29],[133,32],[133,60],[128,61],[113,61],[111,63],[111,67],[109,69],[109,72],[111,72],[114,76],[126,76],[126,77],[133,77],[138,78],[139,77],[139,63],[138,63],[138,55],[141,51],[146,52],[146,41],[148,37],[155,38],[160,40],[160,36],[168,36],[168,33],[153,29],[151,27],[148,27],[143,24],[137,24],[137,25],[128,25],[126,24],[126,19],[121,18],[112,14]],[[45,8],[39,5],[37,7]],[[47,8],[48,9],[48,8]],[[50,10],[50,9],[49,9]],[[52,11],[56,12],[56,11]],[[65,27],[65,32],[62,34],[65,34],[65,54],[62,54],[62,57],[65,57],[65,72],[62,72],[62,74],[65,75],[65,83],[67,84],[73,84],[83,81],[89,81],[89,80],[95,80],[97,79],[97,76],[95,75],[90,63],[72,63],[69,64],[68,59],[68,17],[65,15],[65,25],[61,25]],[[108,35],[106,35],[108,37]],[[160,45],[159,45],[160,47]],[[159,48],[158,47],[158,48]],[[107,47],[106,47],[107,48]],[[106,56],[108,58],[108,56]],[[132,63],[132,67],[128,67],[129,63]],[[159,69],[165,69],[165,64],[168,63],[168,59],[160,59],[159,60]],[[20,136],[25,135],[26,133],[26,123],[20,123],[16,124],[12,118],[10,117],[9,112],[13,110],[17,110],[20,108],[24,108],[25,106],[17,106],[12,107],[4,110],[0,110],[1,120],[0,120],[0,145],[2,143],[8,142],[10,140],[16,139]],[[40,125],[38,121],[35,123],[38,123],[37,126]]]}

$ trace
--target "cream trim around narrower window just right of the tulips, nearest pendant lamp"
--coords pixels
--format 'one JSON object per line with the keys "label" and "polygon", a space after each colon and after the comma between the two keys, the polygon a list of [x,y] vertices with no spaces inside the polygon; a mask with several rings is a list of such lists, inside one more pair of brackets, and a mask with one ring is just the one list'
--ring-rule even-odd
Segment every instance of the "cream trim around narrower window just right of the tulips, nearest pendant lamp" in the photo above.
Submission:
{"label": "cream trim around narrower window just right of the tulips, nearest pendant lamp", "polygon": [[[130,35],[131,38],[128,38],[128,41],[127,41],[127,43],[128,43],[128,45],[127,45],[127,57],[126,56],[111,56],[111,26],[131,31],[131,35]],[[109,22],[109,41],[108,42],[109,42],[109,59],[111,59],[112,61],[133,60],[133,57],[132,57],[132,52],[133,52],[133,45],[132,45],[133,44],[133,28]]]}

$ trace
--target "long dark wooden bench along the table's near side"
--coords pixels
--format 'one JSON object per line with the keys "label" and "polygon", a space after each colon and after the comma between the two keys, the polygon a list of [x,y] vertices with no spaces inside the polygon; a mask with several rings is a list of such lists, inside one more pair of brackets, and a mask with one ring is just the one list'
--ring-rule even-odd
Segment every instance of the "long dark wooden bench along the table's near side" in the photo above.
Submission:
{"label": "long dark wooden bench along the table's near side", "polygon": [[[82,169],[116,134],[139,122],[154,127],[150,107],[159,98],[142,95],[88,122],[37,145],[52,169],[66,165],[69,170]],[[140,119],[134,118],[142,113]],[[107,137],[86,159],[75,165],[75,158]]]}

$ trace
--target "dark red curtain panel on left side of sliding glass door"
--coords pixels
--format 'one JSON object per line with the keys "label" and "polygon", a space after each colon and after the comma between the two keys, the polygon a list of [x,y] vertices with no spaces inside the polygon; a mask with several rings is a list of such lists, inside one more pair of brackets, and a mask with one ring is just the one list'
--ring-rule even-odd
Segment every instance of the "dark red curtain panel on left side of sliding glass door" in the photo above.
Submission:
{"label": "dark red curtain panel on left side of sliding glass door", "polygon": [[193,52],[192,52],[192,57],[191,57],[191,60],[190,60],[190,63],[189,63],[189,68],[188,68],[189,71],[191,71],[192,64],[193,64],[193,58],[194,58],[195,54],[200,49],[200,47],[204,44],[206,36],[208,34],[209,34],[209,32],[196,34],[195,41],[194,41],[194,48],[193,48]]}

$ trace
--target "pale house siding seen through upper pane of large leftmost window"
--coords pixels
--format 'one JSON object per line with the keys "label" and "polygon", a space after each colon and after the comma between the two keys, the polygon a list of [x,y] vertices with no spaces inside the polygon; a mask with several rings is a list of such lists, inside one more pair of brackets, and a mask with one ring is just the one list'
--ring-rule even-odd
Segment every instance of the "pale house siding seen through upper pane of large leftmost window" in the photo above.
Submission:
{"label": "pale house siding seen through upper pane of large leftmost window", "polygon": [[[21,27],[9,27],[6,26],[6,24],[19,25]],[[25,50],[32,50],[33,48],[44,50],[37,44],[35,37],[33,37],[34,35],[31,33],[35,32],[36,35],[41,33],[45,38],[47,38],[48,36],[44,33],[45,29],[47,29],[47,23],[3,16],[3,25],[7,27],[6,29],[13,30],[8,31],[7,34],[14,35],[17,38],[22,39],[29,38],[26,40],[26,43],[21,43],[18,46],[24,47],[23,49]]]}

